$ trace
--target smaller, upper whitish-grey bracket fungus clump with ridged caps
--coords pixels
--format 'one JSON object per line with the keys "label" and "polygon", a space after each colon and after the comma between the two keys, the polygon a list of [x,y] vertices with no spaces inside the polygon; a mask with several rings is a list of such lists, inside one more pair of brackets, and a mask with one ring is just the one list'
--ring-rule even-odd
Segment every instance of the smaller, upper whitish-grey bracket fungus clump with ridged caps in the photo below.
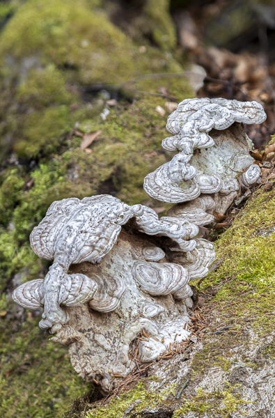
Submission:
{"label": "smaller, upper whitish-grey bracket fungus clump with ridged caps", "polygon": [[[258,102],[183,100],[168,117],[166,128],[173,137],[162,141],[163,148],[178,154],[146,176],[146,192],[171,203],[212,194],[216,210],[224,213],[237,196],[237,174],[254,161],[243,123],[262,123],[265,118]],[[249,169],[244,184],[252,185],[259,176],[259,170]]]}

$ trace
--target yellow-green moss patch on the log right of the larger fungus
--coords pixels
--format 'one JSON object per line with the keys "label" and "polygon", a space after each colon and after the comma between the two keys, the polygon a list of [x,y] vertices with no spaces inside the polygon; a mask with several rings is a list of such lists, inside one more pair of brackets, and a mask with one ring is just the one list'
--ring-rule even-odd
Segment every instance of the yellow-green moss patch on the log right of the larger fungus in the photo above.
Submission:
{"label": "yellow-green moss patch on the log right of the larger fungus", "polygon": [[223,314],[231,313],[228,320],[232,313],[237,323],[252,318],[251,325],[267,333],[275,320],[274,203],[274,192],[260,189],[253,195],[217,241],[217,258],[225,259],[203,284],[219,286],[214,301],[223,306]]}

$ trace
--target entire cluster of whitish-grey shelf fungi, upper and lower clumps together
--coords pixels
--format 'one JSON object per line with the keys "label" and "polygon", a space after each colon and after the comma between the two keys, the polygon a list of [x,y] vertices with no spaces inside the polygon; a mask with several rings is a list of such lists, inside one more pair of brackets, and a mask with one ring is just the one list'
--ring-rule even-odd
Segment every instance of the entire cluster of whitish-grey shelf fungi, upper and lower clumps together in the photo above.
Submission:
{"label": "entire cluster of whitish-grey shelf fungi, upper and lower clumps together", "polygon": [[33,229],[33,251],[54,263],[13,298],[43,307],[40,327],[68,346],[75,371],[103,392],[134,369],[129,350],[141,330],[148,337],[139,340],[140,362],[189,337],[189,282],[205,277],[215,257],[212,242],[197,238],[200,227],[259,180],[244,123],[265,118],[257,102],[183,100],[168,117],[173,136],[162,142],[178,153],[144,181],[150,196],[175,203],[165,217],[99,195],[55,201]]}

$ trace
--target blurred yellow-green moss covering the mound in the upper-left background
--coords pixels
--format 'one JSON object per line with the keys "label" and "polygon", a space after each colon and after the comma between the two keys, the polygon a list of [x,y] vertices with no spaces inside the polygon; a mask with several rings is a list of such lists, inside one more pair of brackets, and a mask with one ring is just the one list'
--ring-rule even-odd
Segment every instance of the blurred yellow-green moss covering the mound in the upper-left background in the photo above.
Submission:
{"label": "blurred yellow-green moss covering the mound in the upper-left background", "polygon": [[[162,1],[162,7],[156,8],[149,1],[146,10],[148,16],[154,11],[159,22],[156,26],[159,29],[155,30],[159,36],[162,33],[162,37],[168,37],[167,45],[171,45],[175,42],[171,40],[174,29],[166,3]],[[85,113],[87,97],[82,93],[86,87],[81,85],[113,84],[116,91],[133,98],[137,90],[158,88],[152,79],[142,82],[140,76],[182,71],[171,54],[150,46],[145,54],[140,52],[138,45],[111,24],[96,6],[97,2],[88,0],[28,0],[2,31],[3,151],[11,146],[24,158],[56,152],[61,136],[74,123],[81,123],[81,119],[76,120],[75,109]],[[170,29],[164,31],[164,23]],[[125,84],[136,77],[137,82]],[[179,88],[186,84],[182,82],[178,79]],[[93,102],[93,96],[90,100]]]}

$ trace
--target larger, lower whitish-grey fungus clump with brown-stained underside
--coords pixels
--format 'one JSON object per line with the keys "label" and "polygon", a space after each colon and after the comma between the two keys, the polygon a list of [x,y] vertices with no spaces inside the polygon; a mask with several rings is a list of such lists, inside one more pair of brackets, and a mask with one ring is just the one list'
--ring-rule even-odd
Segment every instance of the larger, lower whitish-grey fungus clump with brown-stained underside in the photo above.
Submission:
{"label": "larger, lower whitish-grey fungus clump with brown-stained underside", "polygon": [[[36,254],[54,263],[45,280],[22,284],[13,298],[43,307],[40,327],[69,345],[80,376],[107,392],[114,384],[110,370],[127,376],[133,369],[128,352],[141,330],[148,334],[139,345],[143,362],[168,350],[173,339],[187,339],[189,280],[207,274],[214,259],[212,243],[209,254],[202,251],[197,234],[187,219],[159,219],[154,210],[113,196],[56,201],[31,233]],[[173,254],[182,254],[182,262]]]}

